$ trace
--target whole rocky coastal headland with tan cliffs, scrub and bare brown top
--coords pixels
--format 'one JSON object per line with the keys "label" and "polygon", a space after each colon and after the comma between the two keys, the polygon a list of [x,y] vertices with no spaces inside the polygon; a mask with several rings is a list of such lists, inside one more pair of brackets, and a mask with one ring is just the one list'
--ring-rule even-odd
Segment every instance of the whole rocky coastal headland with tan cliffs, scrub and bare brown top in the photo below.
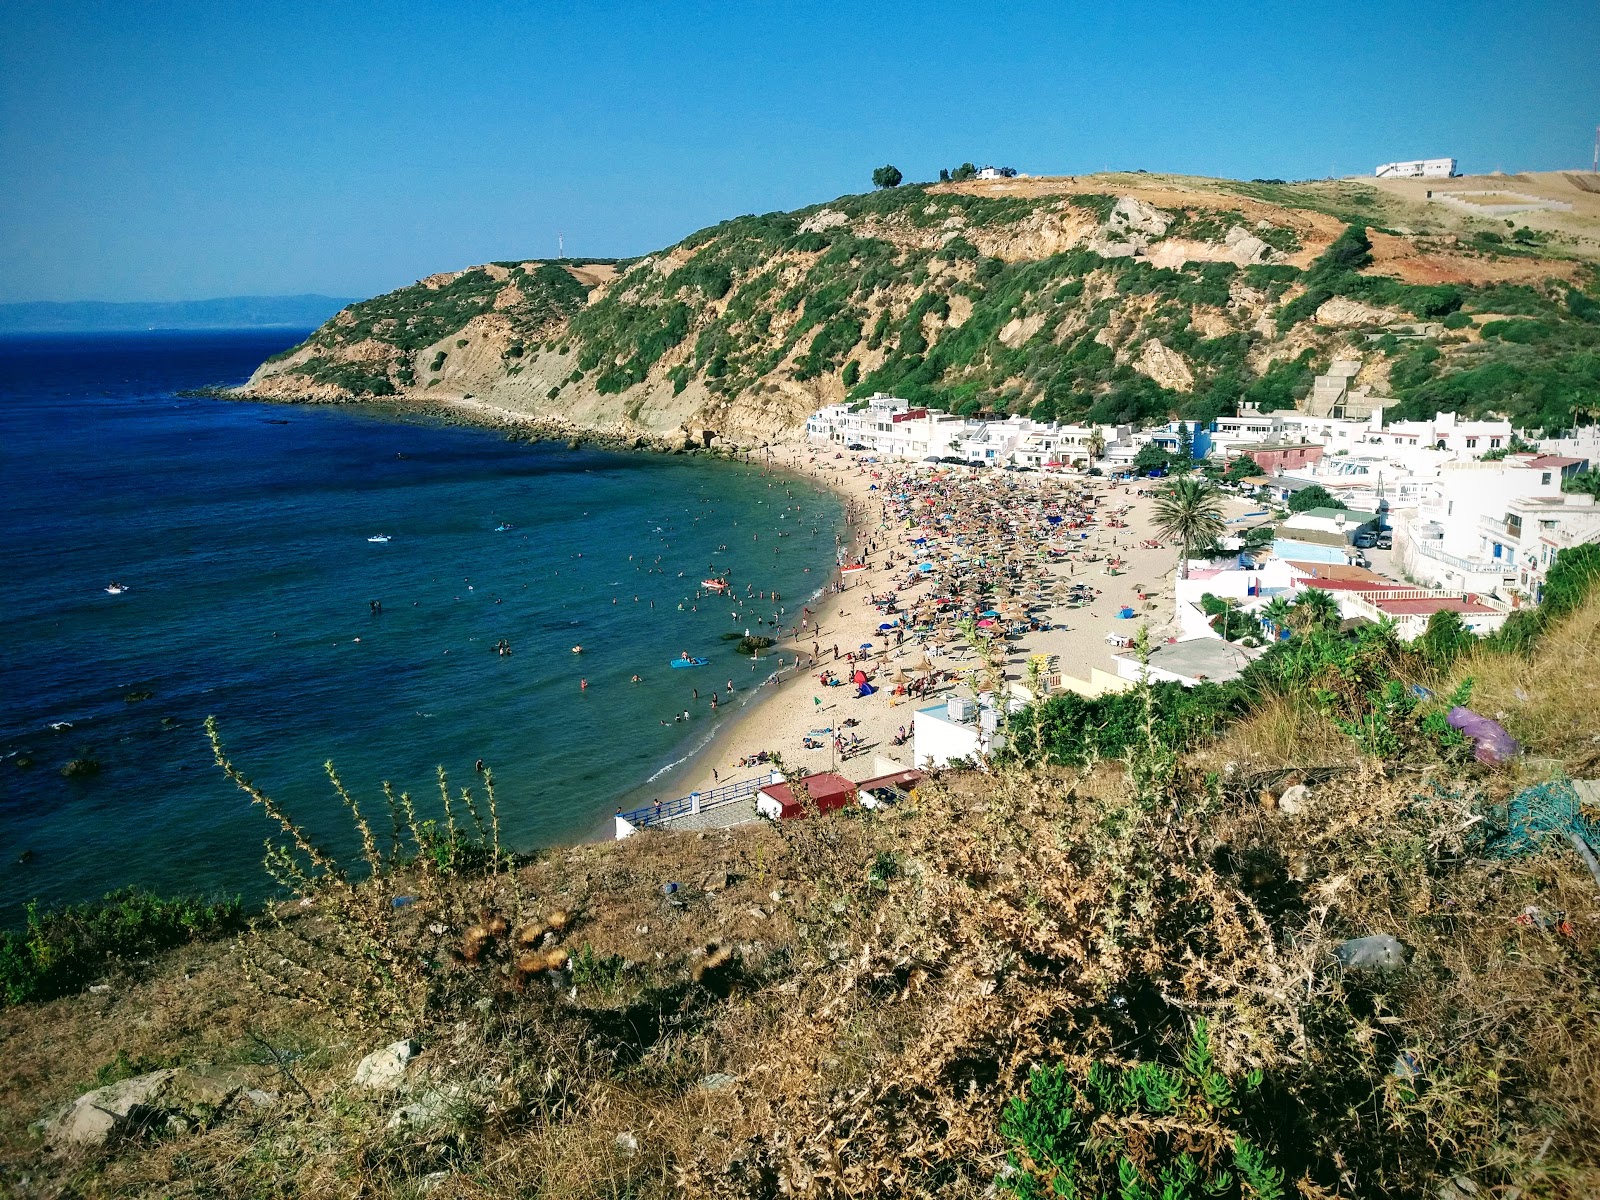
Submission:
{"label": "whole rocky coastal headland with tan cliffs, scrub and bare brown top", "polygon": [[[1600,386],[1600,194],[1517,176],[1546,206],[1478,218],[1419,182],[885,189],[638,259],[430,275],[344,309],[242,394],[758,442],[874,390],[958,413],[1208,421],[1242,400],[1293,408],[1355,352],[1402,413],[1570,424]],[[1445,182],[1466,197],[1483,181]]]}

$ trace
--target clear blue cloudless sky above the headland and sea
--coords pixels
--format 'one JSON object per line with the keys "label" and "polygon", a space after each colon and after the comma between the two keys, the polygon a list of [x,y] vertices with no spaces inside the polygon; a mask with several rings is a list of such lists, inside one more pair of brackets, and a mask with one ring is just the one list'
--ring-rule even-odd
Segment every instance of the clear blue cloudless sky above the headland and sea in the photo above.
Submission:
{"label": "clear blue cloudless sky above the headland and sea", "polygon": [[0,6],[0,301],[638,254],[896,163],[1587,165],[1600,5]]}

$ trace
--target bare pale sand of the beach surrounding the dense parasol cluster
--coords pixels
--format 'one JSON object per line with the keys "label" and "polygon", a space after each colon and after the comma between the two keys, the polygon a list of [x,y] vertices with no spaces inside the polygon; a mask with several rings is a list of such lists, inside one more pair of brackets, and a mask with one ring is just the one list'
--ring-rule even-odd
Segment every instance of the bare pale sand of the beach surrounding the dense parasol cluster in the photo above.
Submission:
{"label": "bare pale sand of the beach surrounding the dense parasol cluster", "polygon": [[[928,467],[909,462],[875,462],[869,454],[840,451],[835,446],[789,445],[773,450],[773,464],[786,470],[808,475],[837,490],[850,504],[848,562],[862,562],[869,570],[851,573],[840,592],[829,590],[816,602],[814,614],[805,630],[794,630],[778,646],[768,651],[773,664],[782,659],[781,682],[768,685],[768,691],[755,701],[725,731],[718,733],[696,770],[688,776],[686,790],[709,790],[720,782],[744,779],[757,768],[741,765],[762,752],[778,754],[790,773],[837,771],[853,781],[869,779],[898,766],[912,765],[909,741],[896,746],[901,730],[909,734],[912,714],[917,707],[960,691],[970,694],[962,680],[965,672],[978,666],[976,653],[960,637],[930,638],[918,643],[906,638],[896,646],[886,642],[880,624],[893,621],[872,603],[872,597],[898,592],[902,611],[915,603],[922,592],[902,587],[907,578],[907,562],[922,555],[922,547],[910,544],[917,530],[907,530],[906,522],[886,515],[886,501],[896,493],[896,482],[926,478]],[[957,486],[982,496],[989,490],[1021,488],[1040,499],[1088,494],[1098,499],[1099,518],[1083,528],[1080,557],[1099,557],[1099,562],[1062,560],[1042,565],[1042,571],[1054,581],[1088,584],[1099,595],[1083,606],[1040,605],[1032,613],[1046,629],[1034,629],[1003,642],[1006,680],[1022,680],[1029,659],[1037,654],[1054,656],[1054,670],[1086,678],[1091,667],[1114,670],[1112,654],[1118,653],[1106,642],[1106,635],[1133,634],[1147,624],[1152,638],[1176,634],[1173,578],[1176,573],[1176,547],[1160,542],[1150,525],[1154,482],[1112,485],[1109,480],[1080,475],[1042,475],[1032,472],[994,472],[966,467],[939,469]],[[1126,512],[1118,514],[1126,507]],[[1229,502],[1229,517],[1243,507]],[[1109,518],[1120,522],[1110,526]],[[1024,534],[1026,536],[1026,534]],[[1077,534],[1074,534],[1077,536]],[[1152,542],[1157,542],[1152,546]],[[931,549],[931,547],[930,547]],[[1037,547],[1035,547],[1037,552]],[[888,558],[894,557],[891,566]],[[1120,560],[1112,573],[1110,560]],[[834,576],[838,579],[838,576]],[[1118,619],[1117,613],[1131,606],[1139,619]],[[853,686],[822,686],[819,674],[834,670],[850,680],[853,664],[834,659],[834,646],[840,654],[866,643],[872,645],[866,667],[877,691],[856,698]],[[813,646],[819,659],[813,659]],[[795,666],[795,658],[800,666]],[[896,678],[917,678],[917,669],[931,664],[939,675],[954,674],[923,696],[896,694]],[[846,726],[846,720],[854,725]],[[840,755],[835,736],[842,736],[856,749]],[[808,747],[806,739],[821,742],[821,749]]]}

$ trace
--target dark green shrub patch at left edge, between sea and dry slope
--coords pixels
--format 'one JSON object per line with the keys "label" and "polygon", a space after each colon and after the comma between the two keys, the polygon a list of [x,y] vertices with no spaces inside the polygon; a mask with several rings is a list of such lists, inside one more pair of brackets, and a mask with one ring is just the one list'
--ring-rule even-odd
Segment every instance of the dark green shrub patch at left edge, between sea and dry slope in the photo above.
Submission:
{"label": "dark green shrub patch at left edge, between sea and dry slope", "polygon": [[51,1000],[93,982],[110,963],[144,958],[243,922],[237,899],[163,899],[138,888],[53,912],[27,909],[27,928],[0,933],[0,1000]]}

